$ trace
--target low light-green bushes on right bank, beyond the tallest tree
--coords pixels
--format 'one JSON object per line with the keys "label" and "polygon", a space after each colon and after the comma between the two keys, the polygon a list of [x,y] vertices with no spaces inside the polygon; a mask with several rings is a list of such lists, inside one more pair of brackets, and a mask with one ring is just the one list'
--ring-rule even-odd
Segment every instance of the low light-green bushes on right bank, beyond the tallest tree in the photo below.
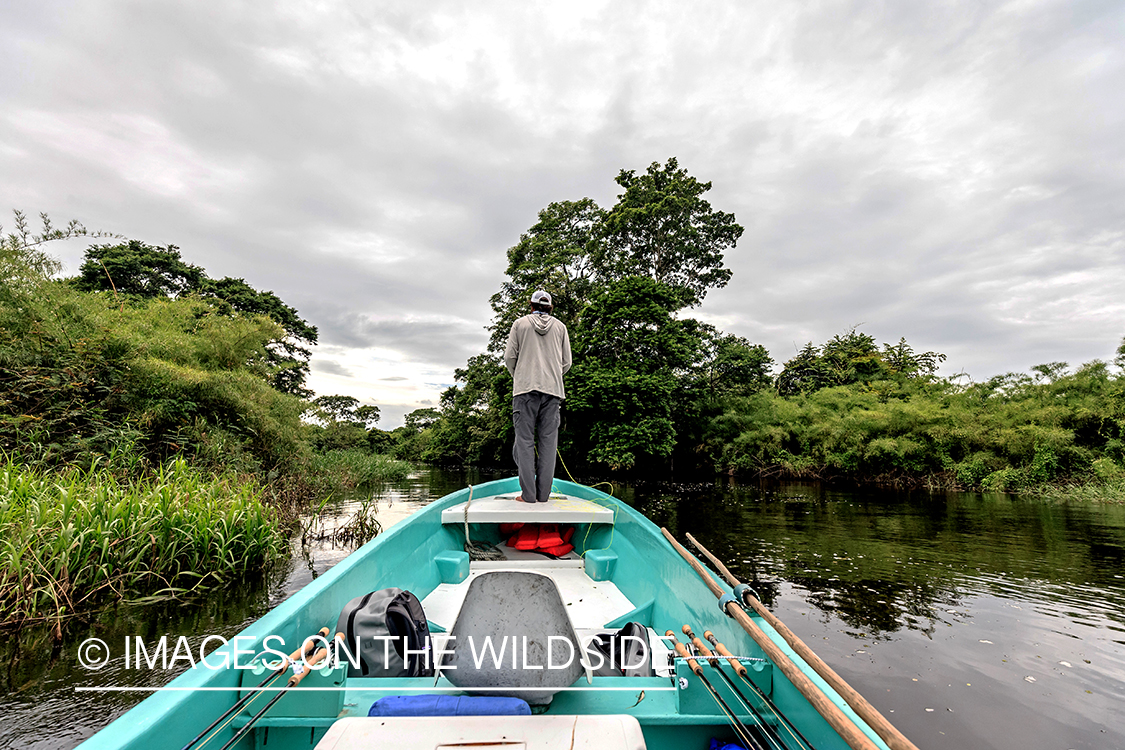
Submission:
{"label": "low light-green bushes on right bank, beyond the tallest tree", "polygon": [[712,422],[708,453],[723,470],[998,491],[1108,471],[1122,445],[1125,382],[1100,362],[1033,372],[964,387],[927,374],[894,399],[865,382],[731,398]]}

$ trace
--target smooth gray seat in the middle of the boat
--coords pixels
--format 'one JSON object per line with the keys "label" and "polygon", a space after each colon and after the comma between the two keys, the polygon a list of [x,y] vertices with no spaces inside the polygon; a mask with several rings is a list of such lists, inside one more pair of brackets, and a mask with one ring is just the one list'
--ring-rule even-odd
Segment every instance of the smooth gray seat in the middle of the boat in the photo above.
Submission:
{"label": "smooth gray seat in the middle of the boat", "polygon": [[583,674],[592,681],[558,587],[540,573],[475,578],[449,636],[438,671],[458,687],[544,704]]}

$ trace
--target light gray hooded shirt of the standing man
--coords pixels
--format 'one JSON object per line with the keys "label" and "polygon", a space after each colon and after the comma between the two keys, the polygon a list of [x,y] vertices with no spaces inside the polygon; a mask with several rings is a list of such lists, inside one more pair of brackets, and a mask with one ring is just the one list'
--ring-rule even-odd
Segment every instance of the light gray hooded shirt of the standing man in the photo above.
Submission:
{"label": "light gray hooded shirt of the standing man", "polygon": [[524,315],[507,335],[504,367],[515,381],[512,396],[538,390],[566,398],[562,374],[570,369],[570,334],[550,315]]}

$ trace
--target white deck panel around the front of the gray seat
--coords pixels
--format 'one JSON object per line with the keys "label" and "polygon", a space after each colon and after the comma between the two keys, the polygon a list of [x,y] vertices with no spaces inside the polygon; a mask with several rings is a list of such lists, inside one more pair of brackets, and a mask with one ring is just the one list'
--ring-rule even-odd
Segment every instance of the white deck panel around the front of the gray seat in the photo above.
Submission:
{"label": "white deck panel around the front of the gray seat", "polygon": [[[576,562],[578,566],[574,564]],[[507,561],[474,562],[468,578],[460,584],[439,584],[429,596],[422,599],[422,608],[425,611],[426,620],[443,627],[447,632],[452,630],[457,614],[461,611],[461,603],[469,590],[469,584],[477,576],[495,570],[523,570],[551,578],[559,589],[562,604],[566,605],[567,614],[570,616],[575,630],[601,629],[605,623],[636,608],[633,603],[612,581],[591,580],[586,571],[582,569],[580,563],[580,559],[542,560],[533,564]]]}

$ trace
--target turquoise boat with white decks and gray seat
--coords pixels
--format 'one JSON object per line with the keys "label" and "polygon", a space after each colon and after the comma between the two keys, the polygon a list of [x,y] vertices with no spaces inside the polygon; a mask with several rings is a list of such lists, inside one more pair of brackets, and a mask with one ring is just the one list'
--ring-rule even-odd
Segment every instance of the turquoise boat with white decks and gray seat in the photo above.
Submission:
{"label": "turquoise boat with white decks and gray seat", "polygon": [[[209,666],[188,669],[165,688],[154,689],[81,747],[190,744],[192,750],[219,750],[234,741],[231,747],[238,750],[467,744],[506,750],[704,750],[712,747],[712,739],[719,742],[716,747],[732,742],[767,750],[912,747],[893,739],[889,746],[775,627],[753,609],[744,613],[720,579],[701,578],[701,569],[691,564],[698,561],[688,561],[686,552],[677,551],[641,514],[591,487],[560,480],[555,491],[549,503],[523,504],[516,497],[518,480],[510,478],[466,487],[432,503],[245,629],[237,642],[232,639],[208,654]],[[513,550],[503,543],[503,523],[573,526],[575,549],[561,555]],[[490,555],[474,558],[503,559],[470,559],[467,533],[470,551],[496,545]],[[529,581],[531,589],[519,588]],[[508,585],[516,588],[504,596]],[[421,600],[434,638],[436,677],[349,676],[346,652],[338,659],[332,648],[317,648],[316,656],[306,659],[315,662],[310,668],[292,670],[300,676],[296,687],[286,687],[286,679],[294,681],[289,671],[270,681],[264,649],[285,653],[310,634],[332,632],[349,602],[387,588],[408,590]],[[720,609],[716,591],[726,595],[727,612]],[[736,609],[738,618],[727,614]],[[533,635],[556,627],[558,638],[577,639],[577,663],[569,665],[570,671],[550,671],[526,660],[518,663],[513,641],[511,665],[492,665],[503,667],[500,681],[495,669],[488,671],[487,660],[488,674],[448,669],[457,658],[465,663],[461,644],[474,629],[478,634],[487,631],[488,613],[493,622],[526,617]],[[770,649],[748,635],[740,624],[744,620],[760,629]],[[588,640],[630,623],[639,623],[647,634],[649,670],[639,676],[592,676]],[[712,634],[712,643],[724,644],[736,658],[709,662],[690,660],[686,652],[676,656],[665,634],[673,631],[686,647],[685,630],[698,639],[704,632]],[[450,648],[460,649],[459,657],[451,658],[452,651],[442,657],[441,639],[447,645],[456,642]],[[309,641],[309,647],[317,644],[332,645]],[[525,657],[526,640],[523,648]],[[791,661],[788,669],[794,679],[770,656],[778,651]],[[325,652],[327,657],[316,661]],[[792,672],[794,666],[799,675]],[[807,696],[809,684],[816,695]],[[382,698],[423,695],[523,696],[533,711],[498,716],[368,715]],[[847,722],[848,731],[839,731],[840,721]],[[854,737],[847,737],[849,732]]]}

